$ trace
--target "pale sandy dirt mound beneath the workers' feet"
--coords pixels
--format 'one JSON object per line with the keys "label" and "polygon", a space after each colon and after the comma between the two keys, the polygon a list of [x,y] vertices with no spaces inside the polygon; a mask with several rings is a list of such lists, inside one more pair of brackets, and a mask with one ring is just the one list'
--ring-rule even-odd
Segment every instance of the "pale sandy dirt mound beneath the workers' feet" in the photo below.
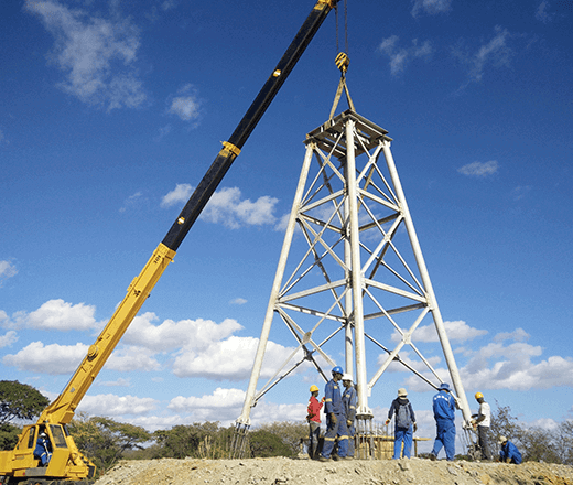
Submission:
{"label": "pale sandy dirt mound beneath the workers' feet", "polygon": [[573,485],[573,467],[528,462],[291,459],[122,461],[96,485]]}

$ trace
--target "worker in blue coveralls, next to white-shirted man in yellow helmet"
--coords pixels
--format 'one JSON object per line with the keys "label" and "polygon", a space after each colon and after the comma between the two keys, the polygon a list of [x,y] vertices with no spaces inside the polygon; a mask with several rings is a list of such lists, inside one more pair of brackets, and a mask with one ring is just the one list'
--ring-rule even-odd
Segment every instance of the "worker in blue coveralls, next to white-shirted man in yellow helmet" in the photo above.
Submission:
{"label": "worker in blue coveralls, next to white-shirted man in yellow helmet", "polygon": [[436,436],[430,459],[436,460],[443,446],[445,457],[452,462],[455,455],[455,399],[450,392],[448,384],[442,382],[440,386],[439,392],[433,398],[433,410]]}

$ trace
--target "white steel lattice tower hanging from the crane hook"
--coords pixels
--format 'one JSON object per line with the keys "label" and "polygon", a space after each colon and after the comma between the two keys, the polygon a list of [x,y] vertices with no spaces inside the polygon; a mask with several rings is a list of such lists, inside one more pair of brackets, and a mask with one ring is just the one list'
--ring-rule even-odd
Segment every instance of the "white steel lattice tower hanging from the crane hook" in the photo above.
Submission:
{"label": "white steel lattice tower hanging from the crane hook", "polygon": [[[414,344],[415,331],[426,316],[433,320],[457,405],[464,421],[469,422],[469,405],[390,151],[391,141],[388,131],[352,109],[307,133],[236,435],[245,436],[251,408],[286,375],[303,363],[312,363],[328,380],[331,367],[336,365],[331,355],[344,351],[343,367],[356,381],[357,434],[368,439],[372,421],[368,397],[392,362],[434,388],[443,381]],[[298,249],[304,241],[305,250],[289,258],[293,240]],[[257,391],[275,315],[292,333],[296,347]],[[372,358],[367,359],[367,341],[387,354],[383,362],[374,363],[377,368],[371,375],[367,375],[367,362],[372,366]],[[333,345],[336,351],[328,354]],[[414,369],[400,357],[406,346],[426,371]]]}

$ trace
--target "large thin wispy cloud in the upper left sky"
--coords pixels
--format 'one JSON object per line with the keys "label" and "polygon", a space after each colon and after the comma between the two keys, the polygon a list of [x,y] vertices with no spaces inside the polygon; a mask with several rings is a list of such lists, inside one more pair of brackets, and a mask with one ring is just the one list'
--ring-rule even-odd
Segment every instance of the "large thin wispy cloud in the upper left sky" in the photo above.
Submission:
{"label": "large thin wispy cloud in the upper left sky", "polygon": [[24,8],[39,15],[55,39],[50,61],[66,73],[61,89],[108,110],[133,108],[145,100],[133,67],[139,31],[128,19],[117,13],[112,20],[89,17],[52,0],[26,0]]}

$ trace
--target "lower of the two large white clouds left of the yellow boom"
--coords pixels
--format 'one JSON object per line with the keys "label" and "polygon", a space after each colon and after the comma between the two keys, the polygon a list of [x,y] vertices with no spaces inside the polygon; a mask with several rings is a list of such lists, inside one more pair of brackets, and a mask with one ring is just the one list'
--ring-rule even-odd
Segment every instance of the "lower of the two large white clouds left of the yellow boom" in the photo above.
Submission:
{"label": "lower of the two large white clouds left of the yellow boom", "polygon": [[9,354],[2,358],[7,366],[17,367],[39,374],[72,374],[87,354],[88,346],[76,345],[45,345],[42,342],[32,342],[17,354]]}

